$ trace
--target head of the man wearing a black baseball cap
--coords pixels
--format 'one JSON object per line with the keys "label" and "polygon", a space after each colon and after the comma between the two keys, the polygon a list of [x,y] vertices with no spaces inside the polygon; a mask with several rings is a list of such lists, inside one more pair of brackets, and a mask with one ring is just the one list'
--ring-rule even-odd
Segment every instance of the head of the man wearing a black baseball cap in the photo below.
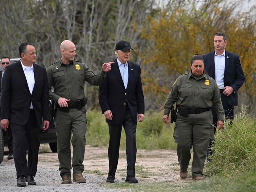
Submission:
{"label": "head of the man wearing a black baseball cap", "polygon": [[126,63],[126,61],[129,61],[131,50],[133,49],[131,48],[131,44],[128,41],[119,41],[115,45],[115,54],[121,63]]}

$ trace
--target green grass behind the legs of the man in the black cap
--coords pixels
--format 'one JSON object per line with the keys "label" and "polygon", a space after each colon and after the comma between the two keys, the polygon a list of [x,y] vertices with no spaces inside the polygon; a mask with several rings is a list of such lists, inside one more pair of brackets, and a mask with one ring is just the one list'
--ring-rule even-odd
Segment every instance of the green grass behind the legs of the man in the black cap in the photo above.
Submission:
{"label": "green grass behind the legs of the man in the black cap", "polygon": [[[94,147],[107,146],[109,141],[108,124],[100,111],[87,111],[87,144]],[[173,139],[174,124],[165,125],[162,114],[147,112],[145,120],[137,124],[136,142],[138,149],[176,149]],[[125,131],[122,130],[120,148],[126,148]]]}

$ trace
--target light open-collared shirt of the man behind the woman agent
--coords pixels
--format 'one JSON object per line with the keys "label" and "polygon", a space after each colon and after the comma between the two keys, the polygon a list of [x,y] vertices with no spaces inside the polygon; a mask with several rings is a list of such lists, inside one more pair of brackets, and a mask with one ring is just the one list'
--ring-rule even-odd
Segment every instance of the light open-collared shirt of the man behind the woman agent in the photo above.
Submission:
{"label": "light open-collared shirt of the man behind the woman agent", "polygon": [[219,89],[224,88],[224,70],[225,70],[225,50],[223,54],[217,55],[214,53],[214,63],[215,63],[215,81]]}

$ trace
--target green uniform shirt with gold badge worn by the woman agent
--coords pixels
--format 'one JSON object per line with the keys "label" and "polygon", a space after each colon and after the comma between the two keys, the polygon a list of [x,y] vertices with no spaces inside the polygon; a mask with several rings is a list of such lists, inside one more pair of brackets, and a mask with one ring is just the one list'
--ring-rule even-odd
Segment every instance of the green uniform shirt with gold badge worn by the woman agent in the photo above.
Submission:
{"label": "green uniform shirt with gold badge worn by the woman agent", "polygon": [[164,115],[169,115],[171,107],[183,105],[189,108],[214,108],[217,120],[224,120],[224,111],[221,103],[221,94],[213,78],[203,73],[195,76],[186,73],[178,77],[164,105]]}

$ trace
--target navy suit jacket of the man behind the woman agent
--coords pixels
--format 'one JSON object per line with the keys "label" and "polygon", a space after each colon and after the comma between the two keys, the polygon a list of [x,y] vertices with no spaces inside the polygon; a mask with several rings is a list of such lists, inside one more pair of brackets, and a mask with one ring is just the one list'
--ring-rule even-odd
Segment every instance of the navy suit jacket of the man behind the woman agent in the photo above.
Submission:
{"label": "navy suit jacket of the man behind the woman agent", "polygon": [[[210,52],[203,55],[204,69],[215,80],[215,63],[214,53]],[[245,75],[240,63],[239,56],[226,51],[225,55],[225,70],[224,70],[224,87],[230,86],[234,89],[233,93],[228,96],[228,105],[238,105],[237,91],[245,81]]]}

